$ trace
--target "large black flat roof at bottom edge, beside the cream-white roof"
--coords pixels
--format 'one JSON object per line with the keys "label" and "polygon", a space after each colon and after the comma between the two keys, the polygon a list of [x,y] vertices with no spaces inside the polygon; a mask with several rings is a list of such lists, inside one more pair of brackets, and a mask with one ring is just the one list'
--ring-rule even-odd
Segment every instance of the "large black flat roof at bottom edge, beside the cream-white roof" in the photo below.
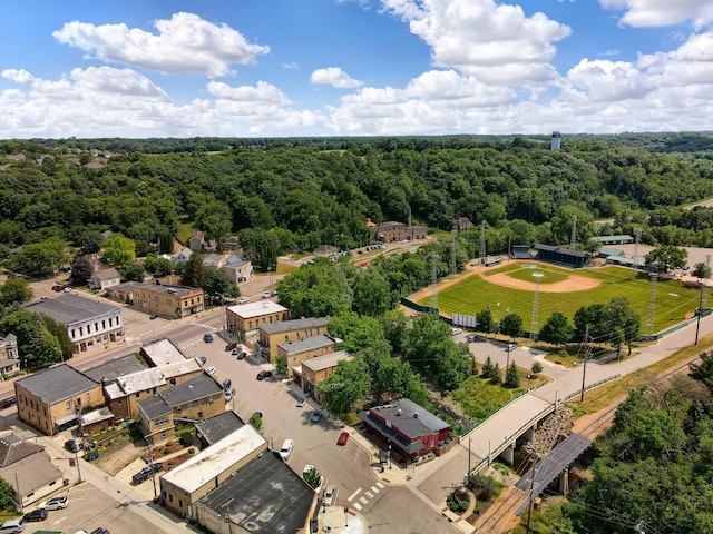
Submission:
{"label": "large black flat roof at bottom edge, beside the cream-white roof", "polygon": [[307,523],[312,490],[272,453],[251,461],[198,503],[247,532],[294,534]]}

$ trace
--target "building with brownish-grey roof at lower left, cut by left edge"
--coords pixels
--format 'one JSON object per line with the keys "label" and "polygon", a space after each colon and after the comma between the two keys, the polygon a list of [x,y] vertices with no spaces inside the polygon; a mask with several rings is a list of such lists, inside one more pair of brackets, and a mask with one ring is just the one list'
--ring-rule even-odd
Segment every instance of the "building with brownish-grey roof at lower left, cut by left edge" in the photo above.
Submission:
{"label": "building with brownish-grey roof at lower left, cut by left edge", "polygon": [[12,487],[19,510],[62,487],[62,472],[45,447],[12,433],[0,437],[0,477]]}

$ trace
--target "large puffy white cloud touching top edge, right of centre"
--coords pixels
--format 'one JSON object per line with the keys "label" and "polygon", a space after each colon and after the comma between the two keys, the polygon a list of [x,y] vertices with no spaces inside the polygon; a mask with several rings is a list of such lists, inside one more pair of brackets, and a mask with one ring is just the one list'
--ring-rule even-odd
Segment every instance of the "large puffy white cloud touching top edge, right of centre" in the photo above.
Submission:
{"label": "large puffy white cloud touching top edge, right of centre", "polygon": [[433,62],[490,83],[541,83],[555,77],[549,60],[570,29],[543,13],[494,0],[381,0],[432,48]]}

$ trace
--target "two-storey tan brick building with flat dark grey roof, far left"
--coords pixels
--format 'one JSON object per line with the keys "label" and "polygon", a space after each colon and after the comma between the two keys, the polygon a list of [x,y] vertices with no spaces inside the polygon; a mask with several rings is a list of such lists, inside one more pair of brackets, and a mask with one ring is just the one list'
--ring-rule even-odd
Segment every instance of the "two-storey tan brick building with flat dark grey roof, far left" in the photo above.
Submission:
{"label": "two-storey tan brick building with flat dark grey roof, far left", "polygon": [[67,364],[55,365],[14,383],[18,418],[52,436],[78,417],[105,405],[101,384]]}

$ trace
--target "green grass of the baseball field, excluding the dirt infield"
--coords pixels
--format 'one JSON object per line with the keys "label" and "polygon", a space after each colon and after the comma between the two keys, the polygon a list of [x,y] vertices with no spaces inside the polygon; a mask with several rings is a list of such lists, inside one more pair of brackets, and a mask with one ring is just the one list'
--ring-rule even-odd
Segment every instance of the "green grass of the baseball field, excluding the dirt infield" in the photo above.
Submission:
{"label": "green grass of the baseball field, excluding the dirt infield", "polygon": [[[520,264],[508,264],[494,273],[522,273]],[[592,269],[560,269],[555,266],[543,266],[543,270],[555,275],[576,274],[600,281],[594,289],[574,293],[539,291],[538,327],[545,324],[554,312],[560,312],[570,320],[575,312],[582,306],[590,304],[608,304],[614,297],[625,296],[642,319],[642,333],[646,333],[648,304],[651,299],[651,283],[644,273],[622,267],[598,267]],[[529,270],[529,276],[535,270]],[[540,287],[543,287],[540,285]],[[693,313],[699,305],[699,289],[684,287],[676,280],[658,280],[656,284],[654,332],[661,332],[685,319],[686,314]],[[535,291],[509,289],[496,286],[480,278],[471,276],[459,284],[455,284],[438,294],[438,307],[447,315],[476,315],[490,306],[496,320],[500,320],[508,313],[522,317],[525,329],[529,329],[533,319]],[[430,304],[430,297],[419,301]]]}

